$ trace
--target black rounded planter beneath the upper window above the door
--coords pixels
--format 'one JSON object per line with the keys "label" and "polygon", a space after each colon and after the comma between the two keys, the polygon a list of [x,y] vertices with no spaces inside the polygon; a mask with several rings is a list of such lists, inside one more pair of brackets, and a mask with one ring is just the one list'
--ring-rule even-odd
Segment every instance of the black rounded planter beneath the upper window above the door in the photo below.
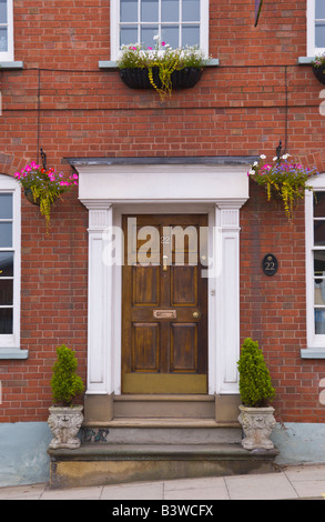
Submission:
{"label": "black rounded planter beneath the upper window above the door", "polygon": [[[199,82],[202,77],[203,69],[195,69],[187,67],[180,71],[172,73],[172,88],[173,89],[190,89]],[[135,68],[135,69],[120,69],[120,77],[125,86],[131,89],[153,89],[150,82],[148,69]],[[159,77],[159,68],[152,69],[152,77],[155,86],[161,89],[162,83]]]}

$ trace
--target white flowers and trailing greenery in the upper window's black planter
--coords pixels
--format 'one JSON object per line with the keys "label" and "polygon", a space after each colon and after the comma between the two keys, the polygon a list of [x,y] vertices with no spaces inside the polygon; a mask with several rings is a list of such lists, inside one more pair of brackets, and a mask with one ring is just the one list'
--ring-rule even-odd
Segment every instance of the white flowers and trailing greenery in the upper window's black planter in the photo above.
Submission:
{"label": "white flowers and trailing greenery in the upper window's black planter", "polygon": [[[184,68],[202,69],[206,64],[206,58],[197,46],[186,46],[173,49],[169,43],[161,42],[159,37],[154,48],[138,43],[122,46],[121,58],[116,61],[119,69],[148,69],[150,83],[158,91],[161,100],[172,93],[172,73]],[[153,69],[158,68],[161,86],[153,78]]]}

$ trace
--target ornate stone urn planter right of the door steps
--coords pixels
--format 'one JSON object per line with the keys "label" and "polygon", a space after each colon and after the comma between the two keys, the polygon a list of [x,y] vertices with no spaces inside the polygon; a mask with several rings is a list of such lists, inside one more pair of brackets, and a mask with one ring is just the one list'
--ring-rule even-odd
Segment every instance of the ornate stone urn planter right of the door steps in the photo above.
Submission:
{"label": "ornate stone urn planter right of the door steps", "polygon": [[240,405],[238,422],[244,432],[242,446],[245,450],[273,450],[274,444],[270,440],[272,430],[276,425],[274,408],[247,408]]}

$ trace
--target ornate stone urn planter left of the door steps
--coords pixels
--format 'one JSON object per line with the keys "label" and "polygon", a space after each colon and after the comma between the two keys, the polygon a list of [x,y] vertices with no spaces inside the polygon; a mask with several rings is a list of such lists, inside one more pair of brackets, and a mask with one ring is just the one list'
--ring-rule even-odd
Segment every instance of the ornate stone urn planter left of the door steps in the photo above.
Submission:
{"label": "ornate stone urn planter left of the door steps", "polygon": [[79,430],[83,422],[83,406],[51,406],[48,424],[53,434],[49,448],[68,448],[75,450],[81,441],[78,438]]}

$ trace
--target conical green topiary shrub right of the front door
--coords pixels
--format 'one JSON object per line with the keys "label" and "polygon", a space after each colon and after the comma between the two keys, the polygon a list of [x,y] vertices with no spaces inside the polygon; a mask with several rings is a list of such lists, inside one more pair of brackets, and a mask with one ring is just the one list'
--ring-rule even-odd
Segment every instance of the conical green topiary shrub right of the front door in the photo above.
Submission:
{"label": "conical green topiary shrub right of the front door", "polygon": [[257,341],[245,339],[237,367],[243,404],[248,408],[268,406],[275,396],[275,390]]}

